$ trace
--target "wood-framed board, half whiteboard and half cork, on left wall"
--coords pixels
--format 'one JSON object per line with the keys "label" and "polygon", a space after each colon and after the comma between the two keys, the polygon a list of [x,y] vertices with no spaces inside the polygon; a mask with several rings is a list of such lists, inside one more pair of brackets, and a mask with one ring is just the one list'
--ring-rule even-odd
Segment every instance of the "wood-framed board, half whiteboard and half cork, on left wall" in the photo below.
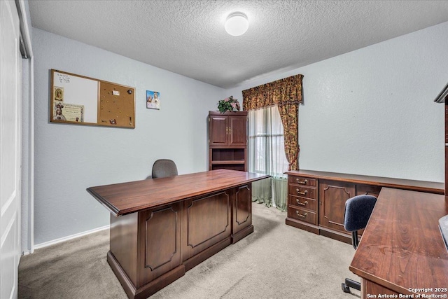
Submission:
{"label": "wood-framed board, half whiteboard and half cork, on left wall", "polygon": [[50,122],[135,127],[135,88],[51,70]]}

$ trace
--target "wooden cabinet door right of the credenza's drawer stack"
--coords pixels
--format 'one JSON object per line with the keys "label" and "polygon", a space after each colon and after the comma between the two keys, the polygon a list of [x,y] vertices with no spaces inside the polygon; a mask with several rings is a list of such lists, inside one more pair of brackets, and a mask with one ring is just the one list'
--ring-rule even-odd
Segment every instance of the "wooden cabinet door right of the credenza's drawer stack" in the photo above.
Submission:
{"label": "wooden cabinet door right of the credenza's drawer stack", "polygon": [[339,232],[344,230],[345,202],[356,195],[354,183],[319,180],[319,225]]}

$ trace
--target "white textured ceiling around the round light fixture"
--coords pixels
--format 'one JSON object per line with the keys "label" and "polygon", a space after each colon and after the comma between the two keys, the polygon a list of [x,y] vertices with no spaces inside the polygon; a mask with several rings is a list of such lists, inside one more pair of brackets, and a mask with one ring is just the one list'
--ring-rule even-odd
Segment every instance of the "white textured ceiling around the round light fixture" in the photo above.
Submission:
{"label": "white textured ceiling around the round light fixture", "polygon": [[[41,1],[33,27],[231,88],[448,21],[448,1]],[[250,22],[242,36],[227,15]],[[448,38],[448,37],[447,37]]]}

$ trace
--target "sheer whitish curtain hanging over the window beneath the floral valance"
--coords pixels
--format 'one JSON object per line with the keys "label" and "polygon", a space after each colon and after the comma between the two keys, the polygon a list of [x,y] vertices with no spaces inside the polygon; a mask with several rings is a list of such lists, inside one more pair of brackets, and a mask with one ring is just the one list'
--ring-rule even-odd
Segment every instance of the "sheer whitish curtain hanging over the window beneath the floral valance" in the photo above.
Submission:
{"label": "sheer whitish curtain hanging over the window beneath the floral valance", "polygon": [[277,106],[248,111],[249,172],[272,177],[252,183],[252,200],[286,211],[288,160],[283,139],[283,125]]}

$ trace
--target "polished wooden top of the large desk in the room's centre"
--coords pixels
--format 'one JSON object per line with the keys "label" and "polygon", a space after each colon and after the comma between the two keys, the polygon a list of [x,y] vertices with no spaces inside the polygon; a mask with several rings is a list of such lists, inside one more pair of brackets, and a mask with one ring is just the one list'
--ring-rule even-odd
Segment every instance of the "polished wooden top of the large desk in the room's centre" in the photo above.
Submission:
{"label": "polished wooden top of the large desk in the room's centre", "polygon": [[217,169],[160,179],[90,187],[87,188],[87,192],[109,209],[112,214],[121,216],[241,186],[268,177],[269,175],[265,174]]}

